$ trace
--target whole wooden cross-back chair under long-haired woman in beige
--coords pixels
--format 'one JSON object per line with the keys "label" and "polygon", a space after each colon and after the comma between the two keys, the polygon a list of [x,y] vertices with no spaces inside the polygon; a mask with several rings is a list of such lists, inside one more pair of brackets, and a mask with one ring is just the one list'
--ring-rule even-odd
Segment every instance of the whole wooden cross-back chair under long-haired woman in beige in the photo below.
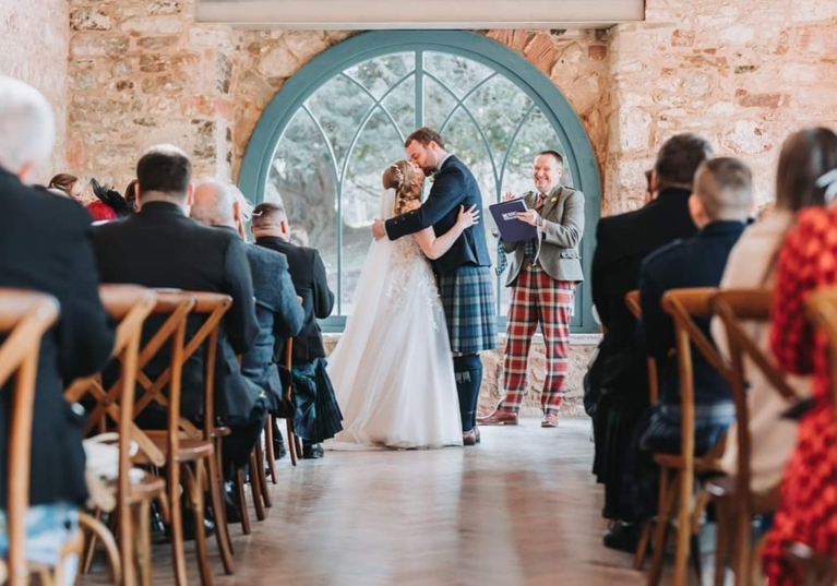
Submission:
{"label": "whole wooden cross-back chair under long-haired woman in beige", "polygon": [[[750,436],[750,408],[748,404],[746,366],[760,370],[770,386],[788,406],[801,399],[788,384],[785,373],[761,350],[758,340],[744,328],[745,324],[767,324],[770,319],[773,291],[770,289],[730,289],[718,292],[713,310],[727,332],[731,367],[730,388],[736,403],[738,471],[734,477],[709,480],[707,490],[716,500],[718,516],[715,584],[722,586],[726,562],[732,552],[732,570],[737,586],[752,584],[753,516],[776,511],[779,487],[764,493],[751,490],[752,438]],[[749,363],[744,362],[749,360]]]}

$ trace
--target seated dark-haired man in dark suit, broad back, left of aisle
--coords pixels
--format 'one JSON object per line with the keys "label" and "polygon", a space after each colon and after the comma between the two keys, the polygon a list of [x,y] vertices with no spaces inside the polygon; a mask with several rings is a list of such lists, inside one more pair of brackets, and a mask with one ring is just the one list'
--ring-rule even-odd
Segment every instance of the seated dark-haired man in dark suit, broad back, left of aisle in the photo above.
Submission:
{"label": "seated dark-haired man in dark suit, broad back, left of aisle", "polygon": [[[136,165],[139,212],[121,222],[98,226],[94,232],[103,280],[146,287],[226,294],[232,307],[222,321],[215,366],[215,415],[232,434],[223,442],[227,479],[249,459],[264,427],[265,405],[260,390],[241,374],[236,355],[250,350],[259,334],[253,280],[244,243],[231,230],[202,226],[187,216],[192,203],[192,164],[176,146],[147,151]],[[157,331],[162,318],[148,320],[144,338]],[[203,318],[190,315],[187,338]],[[159,375],[170,361],[170,347],[157,352],[144,369]],[[180,411],[200,423],[204,394],[204,345],[183,364]],[[140,416],[147,427],[165,427],[163,408],[152,405]]]}

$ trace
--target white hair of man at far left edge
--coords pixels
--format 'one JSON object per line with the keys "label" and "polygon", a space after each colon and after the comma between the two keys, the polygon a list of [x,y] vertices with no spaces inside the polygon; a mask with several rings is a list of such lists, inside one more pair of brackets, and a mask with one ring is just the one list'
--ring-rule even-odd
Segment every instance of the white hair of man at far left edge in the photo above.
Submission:
{"label": "white hair of man at far left edge", "polygon": [[45,163],[56,144],[56,117],[33,86],[0,75],[0,166],[19,174]]}

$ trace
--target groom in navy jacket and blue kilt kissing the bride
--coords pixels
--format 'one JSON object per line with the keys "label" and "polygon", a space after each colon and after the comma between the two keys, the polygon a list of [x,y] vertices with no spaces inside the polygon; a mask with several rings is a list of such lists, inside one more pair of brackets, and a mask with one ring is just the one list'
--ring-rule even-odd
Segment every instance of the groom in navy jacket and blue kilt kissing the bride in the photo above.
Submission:
{"label": "groom in navy jacket and blue kilt kissing the bride", "polygon": [[[482,210],[477,180],[458,158],[445,151],[441,134],[420,128],[407,136],[404,146],[410,160],[431,177],[433,187],[418,210],[385,223],[376,219],[372,225],[372,235],[376,240],[384,236],[397,240],[430,226],[437,236],[441,236],[456,224],[461,205],[466,210],[471,205]],[[490,266],[481,219],[467,228],[451,250],[433,261],[451,338],[465,445],[479,443],[477,403],[482,383],[482,361],[478,352],[497,347],[494,285]]]}

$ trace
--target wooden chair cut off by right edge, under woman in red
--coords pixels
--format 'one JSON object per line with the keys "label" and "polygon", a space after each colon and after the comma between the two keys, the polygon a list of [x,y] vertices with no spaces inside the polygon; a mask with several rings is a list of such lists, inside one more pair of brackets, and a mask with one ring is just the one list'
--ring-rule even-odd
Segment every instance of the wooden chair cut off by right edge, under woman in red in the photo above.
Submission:
{"label": "wooden chair cut off by right edge, under woman in red", "polygon": [[[837,288],[824,288],[811,294],[805,300],[805,310],[811,324],[828,339],[830,400],[837,426]],[[837,478],[834,481],[837,482]],[[791,543],[786,555],[800,569],[802,586],[833,586],[837,583],[836,558],[800,542]]]}

